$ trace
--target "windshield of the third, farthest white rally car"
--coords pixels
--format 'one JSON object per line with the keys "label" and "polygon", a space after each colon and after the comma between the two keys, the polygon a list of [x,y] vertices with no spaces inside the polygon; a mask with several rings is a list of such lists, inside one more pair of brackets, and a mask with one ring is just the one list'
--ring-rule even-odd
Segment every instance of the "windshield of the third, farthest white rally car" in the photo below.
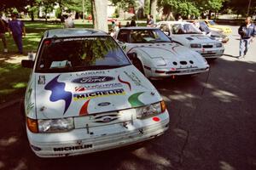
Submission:
{"label": "windshield of the third, farthest white rally car", "polygon": [[201,31],[193,24],[175,24],[172,26],[173,34],[201,34]]}

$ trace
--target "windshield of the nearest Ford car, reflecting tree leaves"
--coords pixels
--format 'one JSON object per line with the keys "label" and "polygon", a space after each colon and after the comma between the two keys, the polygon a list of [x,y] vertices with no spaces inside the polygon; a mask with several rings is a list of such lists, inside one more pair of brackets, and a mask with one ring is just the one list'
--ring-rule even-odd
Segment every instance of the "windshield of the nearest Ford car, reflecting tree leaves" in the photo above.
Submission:
{"label": "windshield of the nearest Ford car, reflecting tree leaves", "polygon": [[41,49],[38,72],[100,70],[131,64],[112,37],[45,39]]}

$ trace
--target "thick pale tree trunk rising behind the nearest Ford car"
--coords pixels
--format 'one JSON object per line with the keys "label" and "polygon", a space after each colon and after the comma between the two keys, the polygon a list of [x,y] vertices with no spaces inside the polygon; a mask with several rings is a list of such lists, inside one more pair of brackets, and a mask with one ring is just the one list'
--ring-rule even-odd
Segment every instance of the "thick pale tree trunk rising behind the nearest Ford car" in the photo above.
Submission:
{"label": "thick pale tree trunk rising behind the nearest Ford car", "polygon": [[94,28],[108,32],[108,0],[93,0]]}

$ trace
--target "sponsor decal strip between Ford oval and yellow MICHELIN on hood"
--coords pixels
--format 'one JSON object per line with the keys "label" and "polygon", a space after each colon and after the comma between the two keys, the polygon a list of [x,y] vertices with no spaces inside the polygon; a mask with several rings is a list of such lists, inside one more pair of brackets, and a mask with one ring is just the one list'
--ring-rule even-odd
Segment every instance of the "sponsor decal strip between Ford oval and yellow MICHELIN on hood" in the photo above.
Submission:
{"label": "sponsor decal strip between Ford oval and yellow MICHELIN on hood", "polygon": [[99,88],[118,88],[123,87],[123,85],[119,82],[108,83],[108,84],[96,84],[96,85],[84,85],[75,87],[76,92],[84,92],[85,90],[99,89]]}

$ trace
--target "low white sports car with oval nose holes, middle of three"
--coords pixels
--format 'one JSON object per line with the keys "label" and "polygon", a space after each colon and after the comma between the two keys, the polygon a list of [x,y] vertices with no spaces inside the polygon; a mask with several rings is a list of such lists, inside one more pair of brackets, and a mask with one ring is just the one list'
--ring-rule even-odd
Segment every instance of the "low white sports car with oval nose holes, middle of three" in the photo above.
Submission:
{"label": "low white sports car with oval nose holes, middle of three", "polygon": [[201,54],[172,42],[158,28],[120,28],[115,39],[133,65],[149,78],[192,75],[209,69]]}

